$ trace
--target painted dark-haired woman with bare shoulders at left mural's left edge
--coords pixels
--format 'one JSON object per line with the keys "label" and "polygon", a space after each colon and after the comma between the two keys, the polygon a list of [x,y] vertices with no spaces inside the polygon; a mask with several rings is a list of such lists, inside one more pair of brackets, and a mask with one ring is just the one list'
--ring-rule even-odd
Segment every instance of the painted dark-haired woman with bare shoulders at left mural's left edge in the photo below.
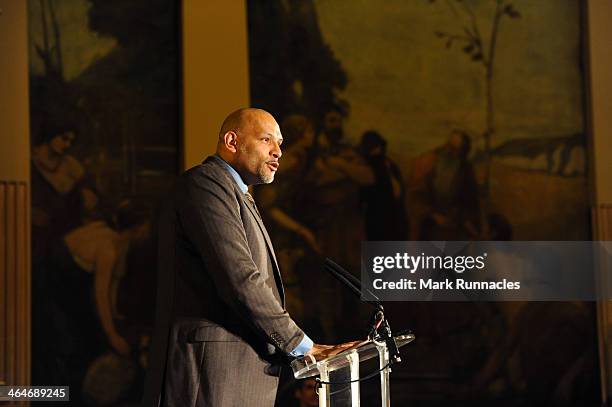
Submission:
{"label": "painted dark-haired woman with bare shoulders at left mural's left edge", "polygon": [[76,128],[69,121],[49,118],[32,149],[32,379],[36,384],[60,385],[74,362],[60,355],[75,343],[57,336],[69,321],[55,301],[50,263],[55,247],[82,225],[83,216],[98,201],[93,189],[85,186],[83,165],[69,153],[76,138]]}

